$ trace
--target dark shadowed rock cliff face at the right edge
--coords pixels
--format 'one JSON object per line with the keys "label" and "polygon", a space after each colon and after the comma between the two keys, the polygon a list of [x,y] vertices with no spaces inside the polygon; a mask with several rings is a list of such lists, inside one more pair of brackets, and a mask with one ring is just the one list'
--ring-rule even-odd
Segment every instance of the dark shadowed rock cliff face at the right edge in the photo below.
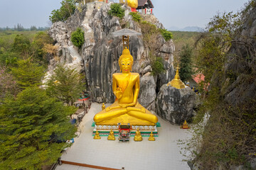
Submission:
{"label": "dark shadowed rock cliff face at the right edge", "polygon": [[256,97],[256,8],[250,11],[245,24],[233,40],[225,64],[225,101],[233,106]]}

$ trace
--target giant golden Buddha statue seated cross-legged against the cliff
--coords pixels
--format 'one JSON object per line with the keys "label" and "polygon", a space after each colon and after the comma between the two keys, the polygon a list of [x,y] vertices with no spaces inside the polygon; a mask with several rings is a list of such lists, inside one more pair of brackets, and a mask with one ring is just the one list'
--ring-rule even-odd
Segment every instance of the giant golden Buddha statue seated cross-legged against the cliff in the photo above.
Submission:
{"label": "giant golden Buddha statue seated cross-legged against the cliff", "polygon": [[133,57],[129,50],[123,50],[119,57],[121,73],[112,76],[112,89],[116,101],[94,117],[96,125],[155,125],[158,121],[153,115],[139,104],[139,74],[131,72]]}

